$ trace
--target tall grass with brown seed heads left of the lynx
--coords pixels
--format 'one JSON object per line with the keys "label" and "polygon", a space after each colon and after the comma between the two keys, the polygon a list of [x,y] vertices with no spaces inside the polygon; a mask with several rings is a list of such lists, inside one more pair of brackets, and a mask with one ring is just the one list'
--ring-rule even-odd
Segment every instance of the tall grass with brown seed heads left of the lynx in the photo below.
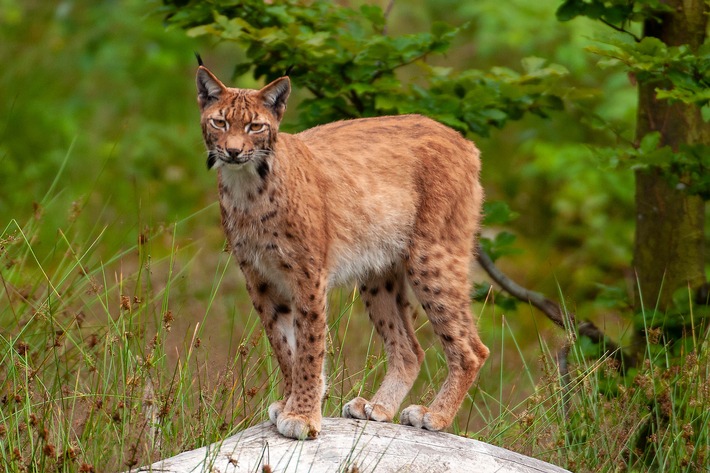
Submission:
{"label": "tall grass with brown seed heads left of the lynx", "polygon": [[207,311],[171,334],[171,291],[189,267],[175,268],[178,248],[153,261],[143,236],[104,260],[92,254],[102,232],[78,242],[59,230],[40,256],[32,228],[10,222],[0,240],[3,470],[116,471],[248,422],[242,388],[263,381],[246,363],[264,354],[249,346],[217,375]]}

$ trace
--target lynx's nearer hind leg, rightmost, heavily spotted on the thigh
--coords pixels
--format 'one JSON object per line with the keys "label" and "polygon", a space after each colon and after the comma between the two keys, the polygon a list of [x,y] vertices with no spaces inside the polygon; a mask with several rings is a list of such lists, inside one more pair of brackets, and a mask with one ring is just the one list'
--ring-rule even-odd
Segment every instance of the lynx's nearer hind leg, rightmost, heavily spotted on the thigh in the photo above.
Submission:
{"label": "lynx's nearer hind leg, rightmost, heavily spotted on the thigh", "polygon": [[[457,248],[428,243],[427,251],[410,254],[407,275],[444,348],[449,373],[441,390],[427,408],[412,405],[402,411],[402,424],[428,430],[451,425],[489,350],[478,337],[471,317],[468,268],[470,243]],[[465,255],[465,256],[461,256]]]}

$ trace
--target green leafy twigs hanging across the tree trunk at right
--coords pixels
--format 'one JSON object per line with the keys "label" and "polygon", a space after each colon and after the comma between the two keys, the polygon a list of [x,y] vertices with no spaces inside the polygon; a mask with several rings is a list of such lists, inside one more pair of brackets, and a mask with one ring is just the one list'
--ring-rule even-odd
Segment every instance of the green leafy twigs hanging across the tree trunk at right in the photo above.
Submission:
{"label": "green leafy twigs hanging across the tree trunk at right", "polygon": [[[710,122],[710,44],[668,45],[653,36],[640,38],[627,27],[648,19],[661,21],[659,14],[672,11],[659,0],[628,2],[567,0],[557,10],[560,21],[586,16],[612,26],[618,33],[598,39],[599,45],[587,50],[602,59],[601,67],[623,67],[640,83],[654,84],[656,98],[700,108],[705,123]],[[641,137],[638,143],[618,149],[603,149],[608,162],[625,167],[657,167],[673,186],[690,194],[710,199],[710,174],[706,143],[687,143],[672,149],[665,146],[658,132]]]}

